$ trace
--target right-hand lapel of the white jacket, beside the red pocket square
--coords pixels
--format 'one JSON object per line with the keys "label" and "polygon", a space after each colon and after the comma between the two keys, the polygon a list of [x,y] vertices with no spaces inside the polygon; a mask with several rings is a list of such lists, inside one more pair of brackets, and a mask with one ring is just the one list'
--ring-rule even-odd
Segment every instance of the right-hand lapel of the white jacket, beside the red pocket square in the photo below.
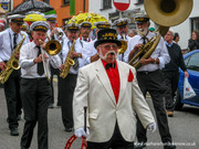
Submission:
{"label": "right-hand lapel of the white jacket, beside the red pocket square", "polygon": [[126,91],[126,85],[127,85],[127,77],[128,77],[128,68],[125,68],[122,62],[117,61],[117,66],[118,66],[118,73],[119,73],[119,81],[121,81],[121,87],[119,87],[119,97],[118,97],[118,103],[123,99],[124,93]]}

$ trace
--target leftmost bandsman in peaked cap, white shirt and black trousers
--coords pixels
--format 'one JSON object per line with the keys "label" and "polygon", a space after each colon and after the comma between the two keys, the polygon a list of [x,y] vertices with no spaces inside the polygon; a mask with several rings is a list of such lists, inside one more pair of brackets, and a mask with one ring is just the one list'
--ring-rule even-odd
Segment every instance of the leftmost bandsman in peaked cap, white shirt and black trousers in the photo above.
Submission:
{"label": "leftmost bandsman in peaked cap, white shirt and black trousers", "polygon": [[[8,72],[7,62],[10,60],[15,47],[20,41],[24,41],[21,44],[29,43],[29,36],[25,32],[21,31],[24,15],[13,14],[9,15],[8,30],[0,32],[0,71]],[[14,52],[14,58],[19,60],[19,50]],[[4,83],[4,95],[8,106],[8,124],[11,136],[18,136],[18,120],[21,118],[21,97],[20,97],[20,70],[13,70],[8,81]]]}

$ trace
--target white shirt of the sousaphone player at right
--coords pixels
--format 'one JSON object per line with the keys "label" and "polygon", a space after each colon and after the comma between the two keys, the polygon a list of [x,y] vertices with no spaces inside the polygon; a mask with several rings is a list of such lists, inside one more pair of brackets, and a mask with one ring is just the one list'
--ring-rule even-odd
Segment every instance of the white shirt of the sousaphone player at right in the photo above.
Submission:
{"label": "white shirt of the sousaphone player at right", "polygon": [[[148,40],[150,40],[153,36],[156,36],[156,34],[153,32],[148,32],[148,34],[146,35],[146,38]],[[134,46],[136,44],[143,43],[143,39],[140,35],[135,35],[130,42],[132,42],[133,49],[134,49]],[[127,56],[125,56],[125,58],[126,58],[125,61],[128,61],[128,54],[130,53],[132,50],[127,51]],[[168,50],[167,50],[167,46],[165,45],[163,38],[160,38],[160,41],[159,41],[158,45],[156,46],[156,50],[153,52],[153,54],[150,56],[155,60],[159,58],[159,64],[150,63],[147,65],[143,65],[137,70],[138,72],[143,72],[143,71],[154,72],[156,70],[163,70],[165,67],[165,64],[169,63],[170,56],[168,54]]]}

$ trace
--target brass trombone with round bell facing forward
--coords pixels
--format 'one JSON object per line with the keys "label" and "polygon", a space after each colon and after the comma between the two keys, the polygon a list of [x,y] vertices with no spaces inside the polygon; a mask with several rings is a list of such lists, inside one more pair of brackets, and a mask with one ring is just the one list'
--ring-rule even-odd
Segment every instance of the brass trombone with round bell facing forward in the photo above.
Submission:
{"label": "brass trombone with round bell facing forward", "polygon": [[[62,45],[60,44],[59,41],[56,40],[50,40],[50,38],[48,36],[49,42],[46,42],[44,51],[49,54],[49,55],[56,55],[60,53]],[[40,43],[42,41],[40,40]],[[43,68],[44,68],[44,74],[48,78],[48,81],[50,81],[50,70],[49,70],[49,61],[44,57],[44,51],[42,49],[42,44],[40,44],[41,47],[41,54],[42,54],[42,61],[43,61]]]}

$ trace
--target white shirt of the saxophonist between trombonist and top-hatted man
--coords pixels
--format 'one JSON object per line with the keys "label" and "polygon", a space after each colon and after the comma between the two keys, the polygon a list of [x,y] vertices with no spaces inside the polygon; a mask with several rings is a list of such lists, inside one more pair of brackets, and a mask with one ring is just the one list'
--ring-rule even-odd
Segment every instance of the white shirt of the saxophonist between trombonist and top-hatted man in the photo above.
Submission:
{"label": "white shirt of the saxophonist between trombonist and top-hatted man", "polygon": [[[63,63],[65,62],[65,58],[67,56],[67,53],[70,51],[71,45],[72,45],[72,42],[69,39],[64,40],[64,42],[63,42],[63,50],[62,50],[62,60],[63,60]],[[80,38],[76,40],[75,45],[74,45],[74,51],[76,53],[82,53],[82,57],[78,57],[78,68],[83,67],[85,65],[86,56],[83,53],[84,45],[85,45],[85,42],[82,42],[80,40]],[[78,70],[74,70],[73,66],[71,66],[70,74],[77,74],[77,73],[78,73]]]}

